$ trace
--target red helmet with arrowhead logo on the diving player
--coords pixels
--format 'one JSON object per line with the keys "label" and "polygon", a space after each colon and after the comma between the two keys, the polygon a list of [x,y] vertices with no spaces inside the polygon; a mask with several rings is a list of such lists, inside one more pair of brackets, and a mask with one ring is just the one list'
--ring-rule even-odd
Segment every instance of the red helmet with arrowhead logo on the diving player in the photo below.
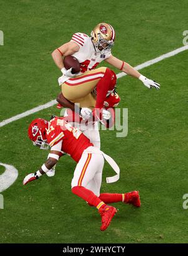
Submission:
{"label": "red helmet with arrowhead logo on the diving player", "polygon": [[48,130],[48,121],[37,118],[33,120],[28,128],[28,136],[33,141],[33,145],[41,149],[48,149],[46,140],[46,131]]}

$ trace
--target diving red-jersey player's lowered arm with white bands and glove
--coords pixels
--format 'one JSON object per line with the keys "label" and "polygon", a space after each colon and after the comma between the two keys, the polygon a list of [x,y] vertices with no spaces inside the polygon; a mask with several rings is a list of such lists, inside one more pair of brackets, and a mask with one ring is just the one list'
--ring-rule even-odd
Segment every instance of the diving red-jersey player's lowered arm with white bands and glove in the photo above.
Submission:
{"label": "diving red-jersey player's lowered arm with white bands and glove", "polygon": [[28,184],[31,181],[35,181],[36,179],[39,179],[41,175],[46,174],[51,168],[58,162],[58,159],[60,158],[60,152],[56,152],[55,150],[50,152],[50,157],[46,162],[41,166],[39,170],[32,174],[26,175],[26,177],[23,180],[23,185]]}

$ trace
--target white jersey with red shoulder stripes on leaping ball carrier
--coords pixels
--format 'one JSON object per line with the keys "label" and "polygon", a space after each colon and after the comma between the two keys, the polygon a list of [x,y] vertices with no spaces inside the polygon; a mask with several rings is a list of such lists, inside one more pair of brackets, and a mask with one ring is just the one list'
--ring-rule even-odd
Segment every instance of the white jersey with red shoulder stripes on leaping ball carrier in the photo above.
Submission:
{"label": "white jersey with red shoulder stripes on leaping ball carrier", "polygon": [[[95,69],[102,60],[105,60],[111,55],[111,50],[106,51],[104,54],[100,51],[96,51],[91,37],[83,33],[75,33],[71,38],[71,42],[77,43],[80,47],[80,50],[75,52],[72,56],[77,58],[78,62],[80,62],[81,73]],[[58,79],[59,84],[63,84],[63,82],[68,79],[70,79],[70,77],[62,75]]]}

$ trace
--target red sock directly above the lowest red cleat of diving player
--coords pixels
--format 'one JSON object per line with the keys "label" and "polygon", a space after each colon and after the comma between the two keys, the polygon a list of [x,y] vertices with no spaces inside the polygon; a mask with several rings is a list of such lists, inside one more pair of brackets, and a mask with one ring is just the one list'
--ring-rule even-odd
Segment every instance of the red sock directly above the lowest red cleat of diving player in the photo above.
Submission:
{"label": "red sock directly above the lowest red cleat of diving player", "polygon": [[76,196],[80,196],[83,200],[88,202],[91,206],[97,207],[99,209],[100,207],[104,207],[106,204],[98,198],[92,191],[89,189],[86,189],[82,186],[76,186],[72,188],[73,194],[76,194]]}

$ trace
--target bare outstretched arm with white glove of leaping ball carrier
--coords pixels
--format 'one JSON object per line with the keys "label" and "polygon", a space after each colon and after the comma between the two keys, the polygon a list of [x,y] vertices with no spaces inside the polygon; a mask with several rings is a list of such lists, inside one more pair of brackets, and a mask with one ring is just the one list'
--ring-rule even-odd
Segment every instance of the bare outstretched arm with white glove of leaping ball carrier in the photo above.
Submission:
{"label": "bare outstretched arm with white glove of leaping ball carrier", "polygon": [[143,82],[143,84],[147,88],[152,89],[152,87],[154,87],[155,89],[160,89],[160,84],[158,84],[157,82],[155,82],[151,79],[148,79],[144,75],[141,75],[140,72],[135,70],[127,62],[124,62],[123,60],[119,60],[118,58],[114,57],[113,55],[111,55],[109,58],[106,58],[105,61],[107,63],[113,65],[113,67],[116,67],[117,69],[122,70],[126,74],[131,75],[132,77],[138,78],[140,81]]}

